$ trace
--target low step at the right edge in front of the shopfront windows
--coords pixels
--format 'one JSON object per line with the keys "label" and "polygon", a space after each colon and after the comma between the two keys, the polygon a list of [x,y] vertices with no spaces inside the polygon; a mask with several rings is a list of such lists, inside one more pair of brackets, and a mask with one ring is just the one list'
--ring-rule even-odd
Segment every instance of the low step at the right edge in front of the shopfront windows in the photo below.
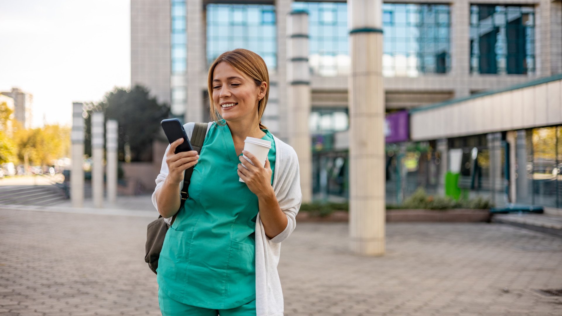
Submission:
{"label": "low step at the right edge in front of the shopfront windows", "polygon": [[562,216],[546,214],[495,214],[492,222],[510,224],[562,237]]}

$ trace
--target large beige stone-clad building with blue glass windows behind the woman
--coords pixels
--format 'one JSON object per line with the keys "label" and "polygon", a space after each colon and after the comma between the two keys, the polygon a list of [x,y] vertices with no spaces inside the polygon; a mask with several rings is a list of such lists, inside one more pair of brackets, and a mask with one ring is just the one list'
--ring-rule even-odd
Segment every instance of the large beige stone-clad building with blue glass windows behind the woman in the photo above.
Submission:
{"label": "large beige stone-clad building with blue glass windows behind the woman", "polygon": [[[226,50],[250,49],[269,68],[271,91],[262,121],[287,140],[287,14],[307,11],[314,192],[346,196],[347,6],[346,1],[132,0],[132,84],[146,85],[184,121],[207,121],[208,66]],[[407,114],[419,107],[562,73],[560,1],[383,1],[382,18],[386,109],[405,112],[406,128]],[[483,134],[487,146],[486,130],[472,133]],[[447,155],[442,146],[447,139],[401,134],[405,137],[387,138],[387,196],[401,186],[389,171],[398,151],[409,163],[407,194],[420,185],[442,190],[444,175],[434,164]],[[444,150],[439,154],[437,143]]]}

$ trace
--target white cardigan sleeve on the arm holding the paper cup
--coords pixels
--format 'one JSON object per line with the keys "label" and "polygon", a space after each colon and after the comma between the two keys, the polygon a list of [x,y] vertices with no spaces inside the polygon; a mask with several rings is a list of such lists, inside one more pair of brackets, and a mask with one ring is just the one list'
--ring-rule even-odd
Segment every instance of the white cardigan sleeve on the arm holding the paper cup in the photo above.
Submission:
{"label": "white cardigan sleeve on the arm holding the paper cup", "polygon": [[[277,200],[279,202],[279,207],[287,216],[287,227],[280,232],[277,236],[269,238],[267,235],[265,238],[273,243],[279,243],[287,239],[289,235],[293,232],[297,225],[296,216],[298,210],[301,207],[302,202],[302,192],[301,192],[301,179],[298,166],[297,153],[291,146],[283,144],[285,148],[284,159],[287,163],[283,164],[282,174],[284,177],[279,179],[280,186],[278,192],[275,193]],[[277,146],[277,144],[276,144]],[[261,220],[261,219],[260,219]]]}

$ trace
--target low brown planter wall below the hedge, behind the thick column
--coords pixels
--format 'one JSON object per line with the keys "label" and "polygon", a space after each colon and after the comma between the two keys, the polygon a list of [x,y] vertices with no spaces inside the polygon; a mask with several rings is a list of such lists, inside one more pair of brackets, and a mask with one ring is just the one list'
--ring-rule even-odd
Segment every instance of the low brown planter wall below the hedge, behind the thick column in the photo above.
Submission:
{"label": "low brown planter wall below the hedge, behind the thick column", "polygon": [[[445,222],[445,223],[473,223],[490,222],[490,210],[488,209],[449,209],[449,210],[426,210],[426,209],[389,209],[386,221],[396,222]],[[297,214],[298,222],[347,222],[349,214],[346,211],[334,211],[328,216],[311,215],[307,211]]]}

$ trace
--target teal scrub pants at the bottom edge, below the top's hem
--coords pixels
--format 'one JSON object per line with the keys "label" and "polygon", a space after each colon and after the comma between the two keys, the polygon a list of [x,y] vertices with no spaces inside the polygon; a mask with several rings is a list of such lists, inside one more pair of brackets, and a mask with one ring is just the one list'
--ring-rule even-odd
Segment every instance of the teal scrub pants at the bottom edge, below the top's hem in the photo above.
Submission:
{"label": "teal scrub pants at the bottom edge, below the top's hem", "polygon": [[162,316],[256,316],[256,300],[231,309],[208,309],[180,303],[158,287],[158,304]]}

